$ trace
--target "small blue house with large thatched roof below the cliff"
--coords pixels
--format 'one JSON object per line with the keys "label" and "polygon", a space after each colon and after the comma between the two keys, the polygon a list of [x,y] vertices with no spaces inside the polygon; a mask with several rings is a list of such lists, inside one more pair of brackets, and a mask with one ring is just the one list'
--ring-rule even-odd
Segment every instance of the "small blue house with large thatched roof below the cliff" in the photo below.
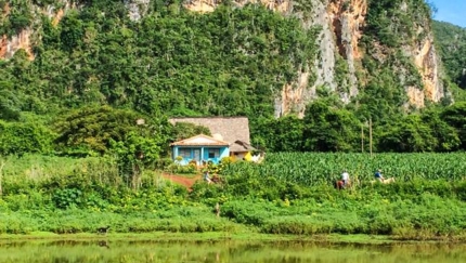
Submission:
{"label": "small blue house with large thatched roof below the cliff", "polygon": [[[197,162],[211,160],[218,163],[221,158],[228,156],[237,159],[247,159],[250,157],[250,152],[255,149],[250,145],[249,120],[246,117],[171,118],[169,121],[172,124],[177,122],[189,122],[196,126],[204,126],[208,128],[212,134],[211,137],[199,134],[172,143],[173,159],[181,156],[183,157],[183,161],[191,158]],[[226,143],[226,145],[222,143]],[[191,152],[189,152],[189,149]],[[181,155],[180,150],[182,150],[183,155]],[[191,155],[189,155],[189,153]],[[218,157],[210,158],[209,156]]]}

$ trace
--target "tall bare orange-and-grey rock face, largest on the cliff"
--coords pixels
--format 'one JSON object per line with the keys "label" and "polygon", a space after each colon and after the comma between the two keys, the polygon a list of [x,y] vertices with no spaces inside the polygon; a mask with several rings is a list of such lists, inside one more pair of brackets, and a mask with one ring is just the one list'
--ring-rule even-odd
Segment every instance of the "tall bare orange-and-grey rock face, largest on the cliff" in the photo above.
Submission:
{"label": "tall bare orange-and-grey rock face, largest on the cliff", "polygon": [[[303,116],[306,105],[315,98],[316,88],[325,87],[338,91],[336,81],[336,58],[342,57],[348,64],[347,91],[339,92],[344,102],[358,94],[355,62],[361,58],[358,44],[362,36],[361,27],[367,12],[366,0],[323,0],[313,1],[312,11],[306,24],[322,28],[319,36],[320,56],[314,62],[316,80],[308,83],[310,73],[299,76],[295,89],[292,84],[283,88],[281,98],[275,100],[275,116],[289,111]],[[292,4],[293,5],[293,4]]]}

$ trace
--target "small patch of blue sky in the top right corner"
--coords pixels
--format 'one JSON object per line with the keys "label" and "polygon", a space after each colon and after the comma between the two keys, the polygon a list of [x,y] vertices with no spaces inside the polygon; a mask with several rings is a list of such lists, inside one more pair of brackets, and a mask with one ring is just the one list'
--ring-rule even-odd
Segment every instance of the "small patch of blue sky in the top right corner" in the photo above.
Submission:
{"label": "small patch of blue sky in the top right corner", "polygon": [[427,2],[433,3],[438,9],[433,19],[466,28],[466,0],[427,0]]}

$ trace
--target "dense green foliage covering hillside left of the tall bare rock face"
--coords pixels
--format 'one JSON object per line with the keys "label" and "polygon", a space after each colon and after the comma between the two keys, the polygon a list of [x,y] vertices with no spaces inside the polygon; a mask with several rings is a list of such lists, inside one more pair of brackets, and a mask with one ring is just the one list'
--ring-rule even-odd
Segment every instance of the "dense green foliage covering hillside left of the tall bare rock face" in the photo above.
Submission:
{"label": "dense green foliage covering hillside left of the tall bare rock face", "polygon": [[275,92],[316,53],[315,28],[261,5],[198,14],[152,1],[132,23],[122,2],[86,1],[57,27],[42,24],[35,61],[17,75],[14,62],[1,69],[24,100],[53,104],[49,113],[109,104],[150,115],[272,116]]}

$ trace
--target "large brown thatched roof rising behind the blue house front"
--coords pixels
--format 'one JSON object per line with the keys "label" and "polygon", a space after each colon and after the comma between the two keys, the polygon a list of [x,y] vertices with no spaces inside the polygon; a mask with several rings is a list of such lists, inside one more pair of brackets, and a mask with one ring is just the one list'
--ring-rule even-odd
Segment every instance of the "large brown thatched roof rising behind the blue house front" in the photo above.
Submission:
{"label": "large brown thatched roof rising behind the blue house front", "polygon": [[[170,118],[169,121],[172,124],[177,122],[190,122],[207,127],[212,137],[230,143],[230,150],[232,152],[247,152],[244,145],[236,144],[236,141],[250,146],[249,120],[246,117]],[[236,145],[238,149],[243,149],[235,150]]]}

